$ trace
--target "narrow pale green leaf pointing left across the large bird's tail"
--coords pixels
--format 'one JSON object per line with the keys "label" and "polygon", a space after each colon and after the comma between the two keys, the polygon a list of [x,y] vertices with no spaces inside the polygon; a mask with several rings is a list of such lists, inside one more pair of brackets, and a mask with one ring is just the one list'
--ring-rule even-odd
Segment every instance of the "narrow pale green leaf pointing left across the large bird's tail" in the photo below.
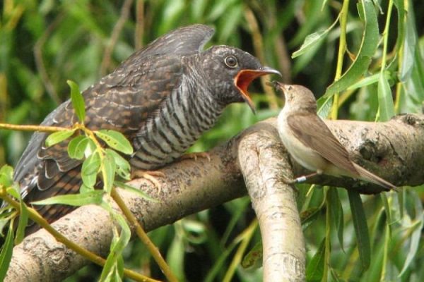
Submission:
{"label": "narrow pale green leaf pointing left across the large bird's tail", "polygon": [[100,204],[104,193],[103,190],[92,190],[79,194],[58,195],[45,200],[31,202],[31,204],[67,204],[73,207],[81,207],[86,204]]}

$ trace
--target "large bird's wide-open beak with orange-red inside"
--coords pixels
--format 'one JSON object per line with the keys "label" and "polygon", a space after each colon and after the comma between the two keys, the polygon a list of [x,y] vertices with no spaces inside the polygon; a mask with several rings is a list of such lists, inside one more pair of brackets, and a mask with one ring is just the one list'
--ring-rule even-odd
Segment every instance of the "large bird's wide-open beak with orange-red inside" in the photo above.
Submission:
{"label": "large bird's wide-open beak with orange-red inside", "polygon": [[252,102],[252,99],[250,98],[249,92],[247,92],[247,88],[249,87],[250,83],[255,79],[259,78],[259,76],[262,75],[280,75],[281,73],[277,70],[274,70],[273,68],[269,68],[267,66],[264,66],[262,68],[259,68],[257,70],[242,70],[237,73],[237,75],[234,78],[234,84],[240,90],[242,93],[243,99],[247,102],[250,109],[255,113],[256,109]]}

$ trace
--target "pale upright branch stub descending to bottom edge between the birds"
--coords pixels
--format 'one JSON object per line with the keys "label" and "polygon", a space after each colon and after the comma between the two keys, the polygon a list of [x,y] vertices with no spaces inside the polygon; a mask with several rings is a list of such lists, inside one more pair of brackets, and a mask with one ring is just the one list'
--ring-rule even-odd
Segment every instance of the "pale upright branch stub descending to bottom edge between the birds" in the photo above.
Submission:
{"label": "pale upright branch stub descending to bottom edge between the birds", "polygon": [[261,227],[264,281],[305,281],[305,242],[288,155],[276,129],[259,123],[239,145],[240,167]]}

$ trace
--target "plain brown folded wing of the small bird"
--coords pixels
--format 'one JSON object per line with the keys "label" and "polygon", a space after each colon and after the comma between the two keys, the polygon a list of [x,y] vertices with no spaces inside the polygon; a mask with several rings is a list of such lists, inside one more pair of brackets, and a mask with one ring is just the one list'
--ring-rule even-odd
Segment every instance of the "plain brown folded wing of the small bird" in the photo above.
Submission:
{"label": "plain brown folded wing of the small bird", "polygon": [[358,175],[349,158],[346,148],[338,142],[333,133],[316,114],[296,114],[288,116],[287,123],[298,140],[314,149],[332,164]]}

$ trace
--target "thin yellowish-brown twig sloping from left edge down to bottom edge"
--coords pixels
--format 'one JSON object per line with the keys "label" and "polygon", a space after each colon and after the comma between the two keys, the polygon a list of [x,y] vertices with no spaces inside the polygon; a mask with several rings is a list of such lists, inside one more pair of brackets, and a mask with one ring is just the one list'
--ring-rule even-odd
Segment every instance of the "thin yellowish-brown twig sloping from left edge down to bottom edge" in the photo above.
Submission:
{"label": "thin yellowish-brown twig sloping from left edge down to bottom edge", "polygon": [[[20,204],[13,200],[11,197],[9,197],[6,194],[6,189],[1,188],[0,189],[0,197],[2,200],[8,202],[16,211],[20,212]],[[90,262],[94,262],[95,264],[98,264],[100,266],[104,266],[106,263],[106,260],[102,257],[99,257],[98,255],[95,255],[93,252],[90,252],[87,249],[84,249],[83,247],[80,247],[76,243],[73,243],[71,240],[66,238],[64,235],[59,233],[56,229],[54,229],[38,212],[35,211],[35,209],[27,207],[28,209],[28,216],[31,220],[33,220],[38,225],[42,226],[42,228],[45,228],[45,230],[52,234],[52,236],[59,241],[60,243],[66,245],[66,247],[69,247],[71,250],[76,252],[78,255],[81,255],[83,257],[86,257],[86,259],[90,260]],[[158,282],[155,279],[148,278],[146,276],[143,276],[141,274],[136,273],[136,271],[132,271],[130,269],[124,269],[124,275],[128,278],[134,279],[135,281],[148,281],[148,282]]]}

